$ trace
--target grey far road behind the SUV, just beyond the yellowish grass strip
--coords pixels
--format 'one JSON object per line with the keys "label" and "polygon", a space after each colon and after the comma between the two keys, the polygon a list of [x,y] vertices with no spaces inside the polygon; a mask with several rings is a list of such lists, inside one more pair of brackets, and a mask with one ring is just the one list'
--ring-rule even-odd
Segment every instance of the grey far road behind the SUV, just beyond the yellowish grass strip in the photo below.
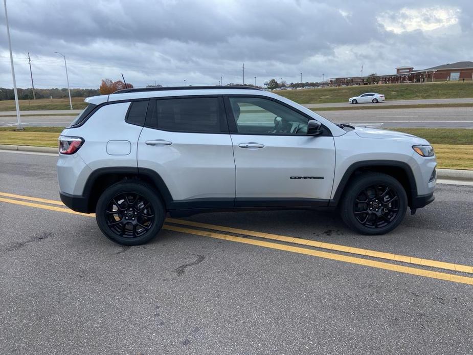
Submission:
{"label": "grey far road behind the SUV, just beyond the yellowish grass strip", "polygon": [[[317,111],[316,111],[317,112]],[[320,111],[319,115],[337,123],[389,127],[473,128],[473,107],[394,108]],[[74,116],[23,116],[28,126],[67,126]],[[16,117],[0,116],[0,126],[16,126]]]}

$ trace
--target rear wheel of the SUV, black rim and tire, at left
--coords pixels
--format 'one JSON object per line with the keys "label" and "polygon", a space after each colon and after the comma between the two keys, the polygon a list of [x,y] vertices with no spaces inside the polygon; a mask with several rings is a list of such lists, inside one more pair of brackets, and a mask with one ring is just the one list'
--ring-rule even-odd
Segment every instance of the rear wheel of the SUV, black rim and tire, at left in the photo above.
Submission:
{"label": "rear wheel of the SUV, black rim and tire, at left", "polygon": [[166,215],[157,191],[140,181],[123,181],[109,186],[95,209],[103,234],[124,246],[137,246],[153,239]]}

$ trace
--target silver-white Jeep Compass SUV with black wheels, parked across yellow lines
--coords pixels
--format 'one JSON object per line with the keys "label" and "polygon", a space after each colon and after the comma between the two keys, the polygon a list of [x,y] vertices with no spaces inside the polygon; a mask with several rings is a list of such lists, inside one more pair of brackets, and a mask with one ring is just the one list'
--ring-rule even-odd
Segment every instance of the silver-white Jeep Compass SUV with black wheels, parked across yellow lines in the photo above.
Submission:
{"label": "silver-white Jeep Compass SUV with black wheels, parked across yellow lines", "polygon": [[339,209],[363,234],[396,228],[434,200],[424,139],[334,124],[244,86],[125,89],[85,100],[59,137],[61,200],[139,245],[167,213]]}

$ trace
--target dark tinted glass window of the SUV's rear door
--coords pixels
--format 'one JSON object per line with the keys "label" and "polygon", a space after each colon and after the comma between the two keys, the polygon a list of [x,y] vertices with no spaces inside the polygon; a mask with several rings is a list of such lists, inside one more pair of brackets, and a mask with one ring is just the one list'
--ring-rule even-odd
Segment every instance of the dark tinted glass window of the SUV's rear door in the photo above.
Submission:
{"label": "dark tinted glass window of the SUV's rear door", "polygon": [[228,131],[221,100],[218,97],[159,99],[153,115],[147,118],[151,128],[177,132],[220,133]]}

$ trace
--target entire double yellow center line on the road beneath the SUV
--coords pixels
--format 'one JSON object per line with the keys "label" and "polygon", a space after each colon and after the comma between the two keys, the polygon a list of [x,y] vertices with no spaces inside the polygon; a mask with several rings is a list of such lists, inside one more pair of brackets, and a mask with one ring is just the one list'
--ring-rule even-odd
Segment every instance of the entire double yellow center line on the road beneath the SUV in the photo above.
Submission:
{"label": "entire double yellow center line on the road beneath the SUV", "polygon": [[[57,211],[63,213],[78,214],[87,217],[94,217],[94,214],[84,214],[72,211],[60,201],[52,199],[31,197],[24,195],[17,195],[12,193],[0,192],[0,202],[35,207],[44,210]],[[51,206],[52,205],[52,206]],[[61,207],[58,207],[61,206]],[[194,227],[194,228],[189,228]],[[198,229],[195,229],[198,228]],[[434,279],[458,282],[473,285],[473,278],[468,276],[462,276],[452,273],[444,273],[426,268],[448,270],[455,273],[473,274],[473,267],[463,264],[455,264],[449,262],[442,262],[430,259],[422,259],[417,257],[411,257],[406,255],[398,255],[391,253],[378,252],[374,250],[353,248],[343,245],[337,245],[332,243],[321,242],[317,240],[301,239],[290,236],[262,233],[256,231],[250,231],[245,229],[216,226],[205,223],[198,223],[189,220],[167,218],[166,224],[163,229],[211,237],[216,239],[229,240],[234,242],[240,242],[250,244],[254,246],[271,248],[276,250],[282,250],[292,253],[305,254],[311,256],[317,256],[324,259],[337,260],[348,262],[357,265],[363,265],[366,267],[372,267],[383,270],[395,271],[403,274],[411,274],[423,277],[429,277]],[[219,232],[224,232],[219,233]],[[272,241],[267,241],[272,240]],[[316,248],[316,249],[313,249]],[[321,251],[318,249],[329,250]],[[350,255],[347,255],[350,254]],[[359,255],[363,257],[355,257],[352,255]],[[384,259],[391,262],[378,261],[376,259]],[[421,268],[414,268],[411,266],[402,265],[412,264],[417,265]]]}

